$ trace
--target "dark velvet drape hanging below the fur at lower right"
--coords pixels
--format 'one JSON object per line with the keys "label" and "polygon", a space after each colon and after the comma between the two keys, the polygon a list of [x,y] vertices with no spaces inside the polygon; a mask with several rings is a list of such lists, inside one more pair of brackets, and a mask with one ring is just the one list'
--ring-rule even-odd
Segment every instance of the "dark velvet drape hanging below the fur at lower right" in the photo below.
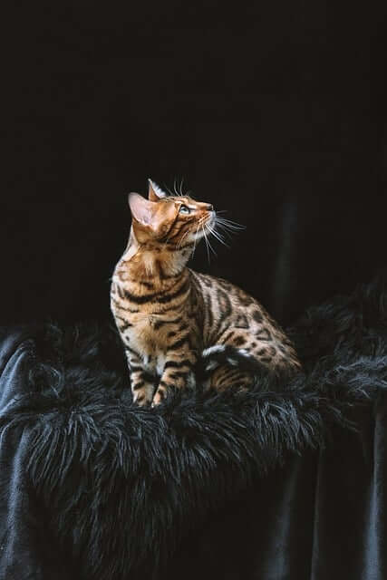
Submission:
{"label": "dark velvet drape hanging below the fur at lower right", "polygon": [[355,420],[208,518],[162,578],[386,578],[386,398]]}

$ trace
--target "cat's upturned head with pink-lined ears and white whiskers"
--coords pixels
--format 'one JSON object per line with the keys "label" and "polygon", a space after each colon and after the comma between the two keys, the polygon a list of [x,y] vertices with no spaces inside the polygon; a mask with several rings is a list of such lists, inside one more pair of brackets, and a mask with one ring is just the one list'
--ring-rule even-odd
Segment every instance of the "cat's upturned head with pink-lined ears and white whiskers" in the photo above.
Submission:
{"label": "cat's upturned head with pink-lined ears and white whiskers", "polygon": [[177,249],[193,246],[215,223],[212,205],[188,196],[167,195],[151,180],[148,199],[130,193],[129,206],[140,244],[168,244]]}

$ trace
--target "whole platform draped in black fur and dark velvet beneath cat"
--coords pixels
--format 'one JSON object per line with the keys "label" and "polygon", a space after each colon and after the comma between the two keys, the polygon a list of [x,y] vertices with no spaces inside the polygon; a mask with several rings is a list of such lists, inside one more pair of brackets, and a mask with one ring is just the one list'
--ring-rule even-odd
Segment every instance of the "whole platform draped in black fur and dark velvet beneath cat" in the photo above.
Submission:
{"label": "whole platform draped in black fur and dark velvet beneath cat", "polygon": [[386,306],[307,311],[276,390],[153,411],[108,327],[4,329],[0,578],[385,578]]}

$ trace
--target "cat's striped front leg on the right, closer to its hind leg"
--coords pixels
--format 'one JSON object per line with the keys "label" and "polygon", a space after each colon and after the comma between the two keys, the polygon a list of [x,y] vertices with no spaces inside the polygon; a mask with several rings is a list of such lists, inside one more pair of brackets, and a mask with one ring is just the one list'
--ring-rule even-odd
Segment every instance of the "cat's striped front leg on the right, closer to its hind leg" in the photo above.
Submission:
{"label": "cat's striped front leg on the right, closer to its hind leg", "polygon": [[197,361],[198,355],[194,351],[169,351],[167,353],[164,371],[154,394],[152,407],[163,401],[169,389],[182,389],[185,386],[195,385],[194,367]]}

